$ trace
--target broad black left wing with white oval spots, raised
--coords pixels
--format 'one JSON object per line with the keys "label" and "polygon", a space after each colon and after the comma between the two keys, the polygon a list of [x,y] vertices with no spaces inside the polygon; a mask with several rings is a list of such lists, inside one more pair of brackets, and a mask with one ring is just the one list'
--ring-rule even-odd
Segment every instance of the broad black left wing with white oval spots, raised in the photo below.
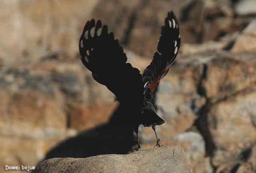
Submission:
{"label": "broad black left wing with white oval spots, raised", "polygon": [[107,86],[120,103],[141,106],[143,79],[140,71],[126,63],[126,54],[114,34],[100,20],[87,21],[79,41],[81,60],[93,78]]}

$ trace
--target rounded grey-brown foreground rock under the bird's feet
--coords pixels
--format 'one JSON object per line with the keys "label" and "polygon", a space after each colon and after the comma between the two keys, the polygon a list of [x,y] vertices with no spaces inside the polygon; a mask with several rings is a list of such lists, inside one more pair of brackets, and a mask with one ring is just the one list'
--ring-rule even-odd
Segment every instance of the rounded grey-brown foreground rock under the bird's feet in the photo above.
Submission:
{"label": "rounded grey-brown foreground rock under the bird's feet", "polygon": [[140,150],[128,155],[98,155],[89,158],[53,158],[41,162],[33,173],[50,172],[172,172],[192,173],[185,152],[179,147]]}

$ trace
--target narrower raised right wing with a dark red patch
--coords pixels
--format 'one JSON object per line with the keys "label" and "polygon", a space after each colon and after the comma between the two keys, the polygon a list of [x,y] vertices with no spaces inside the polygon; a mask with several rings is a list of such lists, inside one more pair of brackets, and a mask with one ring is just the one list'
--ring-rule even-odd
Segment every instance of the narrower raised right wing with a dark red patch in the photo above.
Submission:
{"label": "narrower raised right wing with a dark red patch", "polygon": [[144,95],[153,93],[158,83],[168,73],[180,49],[180,30],[174,12],[168,12],[162,26],[157,51],[150,65],[143,73]]}

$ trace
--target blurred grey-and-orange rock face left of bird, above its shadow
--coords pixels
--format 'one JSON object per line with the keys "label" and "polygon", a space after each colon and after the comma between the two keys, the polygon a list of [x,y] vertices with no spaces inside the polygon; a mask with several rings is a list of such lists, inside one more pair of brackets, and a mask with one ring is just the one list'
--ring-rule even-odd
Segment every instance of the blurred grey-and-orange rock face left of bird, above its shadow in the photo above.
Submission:
{"label": "blurred grey-and-orange rock face left of bird, above its shadow", "polygon": [[113,94],[92,79],[79,59],[4,67],[0,97],[3,166],[35,165],[77,131],[107,122],[116,106]]}

